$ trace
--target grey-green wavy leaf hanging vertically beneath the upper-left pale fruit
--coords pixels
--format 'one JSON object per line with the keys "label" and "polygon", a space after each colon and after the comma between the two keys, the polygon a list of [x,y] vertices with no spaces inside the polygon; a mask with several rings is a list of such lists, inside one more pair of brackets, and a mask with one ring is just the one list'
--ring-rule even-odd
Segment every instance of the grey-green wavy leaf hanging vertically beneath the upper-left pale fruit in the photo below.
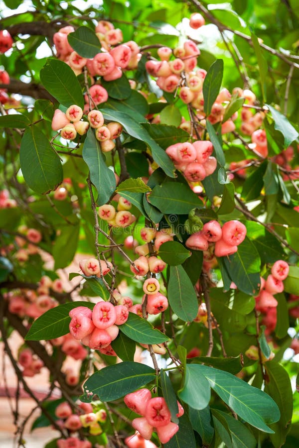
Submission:
{"label": "grey-green wavy leaf hanging vertically beneath the upper-left pale fruit", "polygon": [[97,205],[104,205],[115,191],[116,180],[113,171],[105,163],[100,142],[91,128],[87,131],[82,156],[89,168],[90,180],[98,192]]}

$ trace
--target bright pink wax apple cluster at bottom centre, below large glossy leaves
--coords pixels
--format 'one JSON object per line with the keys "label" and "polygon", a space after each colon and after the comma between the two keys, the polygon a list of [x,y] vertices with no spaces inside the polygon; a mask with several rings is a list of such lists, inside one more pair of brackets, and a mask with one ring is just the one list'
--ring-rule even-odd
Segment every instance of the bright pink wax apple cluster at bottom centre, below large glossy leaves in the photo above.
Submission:
{"label": "bright pink wax apple cluster at bottom centre, below large glossy leaves", "polygon": [[[160,442],[166,444],[177,433],[178,425],[170,421],[171,414],[164,398],[151,398],[149,389],[139,389],[126,395],[124,402],[129,409],[142,415],[133,420],[132,426],[145,439],[149,440],[155,430]],[[179,402],[177,406],[176,417],[181,417],[184,409]]]}

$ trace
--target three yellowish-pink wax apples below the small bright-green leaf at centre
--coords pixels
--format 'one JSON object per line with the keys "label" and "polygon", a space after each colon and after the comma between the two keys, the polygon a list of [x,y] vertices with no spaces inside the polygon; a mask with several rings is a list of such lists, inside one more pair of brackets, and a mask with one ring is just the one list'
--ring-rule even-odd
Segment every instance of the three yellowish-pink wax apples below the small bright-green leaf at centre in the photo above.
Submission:
{"label": "three yellowish-pink wax apples below the small bright-green leaf at centre", "polygon": [[136,221],[136,217],[130,212],[131,208],[131,202],[120,197],[117,209],[111,204],[105,204],[99,207],[98,215],[112,227],[127,227]]}

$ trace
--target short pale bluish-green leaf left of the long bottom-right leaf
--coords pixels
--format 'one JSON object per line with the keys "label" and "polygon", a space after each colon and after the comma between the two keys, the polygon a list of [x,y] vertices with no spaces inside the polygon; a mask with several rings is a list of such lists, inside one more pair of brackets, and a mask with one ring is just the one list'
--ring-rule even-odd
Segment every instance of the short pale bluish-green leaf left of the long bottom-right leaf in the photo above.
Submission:
{"label": "short pale bluish-green leaf left of the long bottom-right leaf", "polygon": [[194,409],[204,409],[211,398],[208,381],[197,364],[187,364],[184,369],[184,384],[178,391],[179,398]]}

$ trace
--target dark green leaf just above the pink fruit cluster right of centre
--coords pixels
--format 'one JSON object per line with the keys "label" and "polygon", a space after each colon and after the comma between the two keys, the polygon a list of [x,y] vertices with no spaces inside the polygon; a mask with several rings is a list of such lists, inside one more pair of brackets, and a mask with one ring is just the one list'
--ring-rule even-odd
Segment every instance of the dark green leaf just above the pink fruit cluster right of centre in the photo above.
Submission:
{"label": "dark green leaf just above the pink fruit cluster right of centre", "polygon": [[184,143],[189,139],[189,134],[176,126],[144,123],[143,127],[163,149],[168,148],[168,146],[173,145],[174,143]]}

